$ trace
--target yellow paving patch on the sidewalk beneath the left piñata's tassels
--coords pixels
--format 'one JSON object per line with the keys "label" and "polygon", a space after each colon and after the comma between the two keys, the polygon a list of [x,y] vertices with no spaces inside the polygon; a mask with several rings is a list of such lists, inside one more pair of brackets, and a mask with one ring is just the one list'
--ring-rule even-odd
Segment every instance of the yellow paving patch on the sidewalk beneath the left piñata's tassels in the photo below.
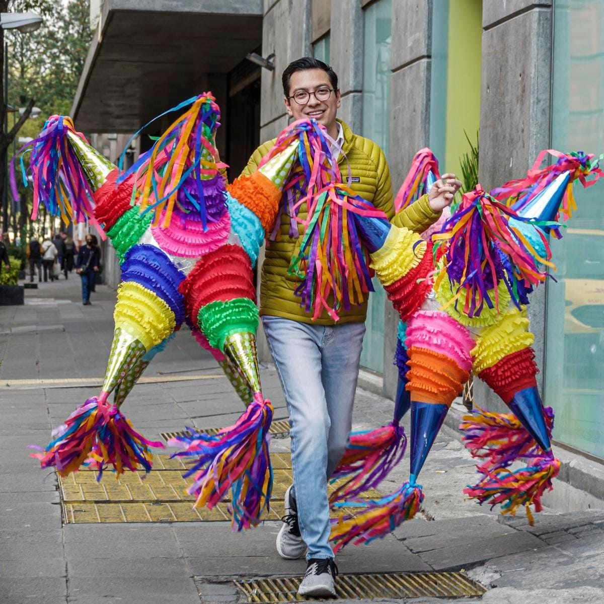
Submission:
{"label": "yellow paving patch on the sidewalk beneath the left pi\u00f1ata's tassels", "polygon": [[[266,520],[283,517],[283,497],[292,483],[291,456],[271,453],[274,471],[271,510]],[[83,469],[68,477],[59,477],[59,492],[65,524],[81,522],[193,522],[227,521],[229,499],[212,510],[194,508],[194,496],[186,490],[190,479],[182,477],[187,466],[178,458],[155,455],[153,471],[127,472],[116,478],[104,472],[97,482],[97,472]],[[333,487],[331,487],[333,488]],[[376,491],[368,498],[379,497]],[[353,510],[344,510],[352,512]]]}

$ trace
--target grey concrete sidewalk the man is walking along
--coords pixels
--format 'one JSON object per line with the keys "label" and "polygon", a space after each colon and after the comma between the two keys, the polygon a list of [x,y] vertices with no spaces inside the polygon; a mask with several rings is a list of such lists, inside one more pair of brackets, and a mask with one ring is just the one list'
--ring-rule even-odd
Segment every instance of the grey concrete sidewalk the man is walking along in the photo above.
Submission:
{"label": "grey concrete sidewalk the man is walking along", "polygon": [[[26,291],[25,306],[0,307],[0,602],[233,602],[232,584],[222,583],[229,579],[303,574],[303,561],[277,556],[278,522],[244,534],[228,522],[62,525],[56,475],[40,470],[27,445],[45,445],[102,381],[115,292],[99,286],[85,307],[79,285],[77,277],[42,283]],[[137,385],[124,413],[152,440],[185,426],[228,425],[242,405],[220,373],[183,330],[146,371],[154,383]],[[175,377],[182,381],[169,381]],[[263,368],[262,383],[275,420],[286,419],[272,367]],[[392,411],[391,401],[358,390],[355,429],[383,425]],[[289,439],[271,448],[286,452]],[[382,490],[407,472],[405,460]],[[465,501],[474,461],[446,427],[421,478],[419,517],[367,548],[347,547],[340,573],[464,569],[490,587],[482,602],[604,601],[604,511],[548,509],[530,527]]]}

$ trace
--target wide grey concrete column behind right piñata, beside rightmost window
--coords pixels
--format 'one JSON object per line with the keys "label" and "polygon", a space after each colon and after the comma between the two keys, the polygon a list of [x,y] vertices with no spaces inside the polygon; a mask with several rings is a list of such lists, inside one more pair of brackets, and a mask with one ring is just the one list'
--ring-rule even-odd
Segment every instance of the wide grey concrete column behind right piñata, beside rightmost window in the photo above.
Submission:
{"label": "wide grey concrete column behind right pi\u00f1ata, beside rightmost window", "polygon": [[[521,178],[550,144],[551,0],[484,0],[479,179],[489,190]],[[545,287],[528,307],[535,352],[543,371]],[[543,388],[543,373],[538,374]],[[474,398],[491,410],[507,407],[480,380]]]}

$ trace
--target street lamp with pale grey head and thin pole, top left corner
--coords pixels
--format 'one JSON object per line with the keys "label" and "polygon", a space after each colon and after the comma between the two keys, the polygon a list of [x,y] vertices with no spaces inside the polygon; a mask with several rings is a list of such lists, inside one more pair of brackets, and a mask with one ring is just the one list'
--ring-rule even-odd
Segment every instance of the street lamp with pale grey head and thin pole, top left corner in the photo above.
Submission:
{"label": "street lamp with pale grey head and thin pole, top left corner", "polygon": [[[18,30],[21,33],[31,33],[36,31],[42,25],[42,17],[36,13],[0,13],[0,28],[2,30]],[[4,36],[3,36],[4,37]],[[0,46],[0,48],[2,48]],[[0,157],[0,169],[2,178],[0,187],[2,187],[2,239],[5,239],[8,233],[8,144],[6,135],[8,133],[8,43],[4,44],[4,94],[2,94],[2,127],[4,134],[2,154]]]}

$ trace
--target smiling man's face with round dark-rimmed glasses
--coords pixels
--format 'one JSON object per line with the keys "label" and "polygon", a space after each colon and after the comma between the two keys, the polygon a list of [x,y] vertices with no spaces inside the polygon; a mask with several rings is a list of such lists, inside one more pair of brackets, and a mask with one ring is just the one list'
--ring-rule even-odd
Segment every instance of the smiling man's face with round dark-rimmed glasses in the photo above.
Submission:
{"label": "smiling man's face with round dark-rimmed glasses", "polygon": [[[314,94],[311,94],[305,104],[300,104],[292,98],[297,92],[324,92],[324,89],[331,90],[327,100],[318,100]],[[304,69],[292,74],[289,79],[289,97],[283,100],[290,117],[293,117],[294,120],[314,118],[325,126],[328,132],[330,130],[333,132],[336,112],[340,106],[340,93],[339,90],[333,90],[329,76],[323,69]]]}

